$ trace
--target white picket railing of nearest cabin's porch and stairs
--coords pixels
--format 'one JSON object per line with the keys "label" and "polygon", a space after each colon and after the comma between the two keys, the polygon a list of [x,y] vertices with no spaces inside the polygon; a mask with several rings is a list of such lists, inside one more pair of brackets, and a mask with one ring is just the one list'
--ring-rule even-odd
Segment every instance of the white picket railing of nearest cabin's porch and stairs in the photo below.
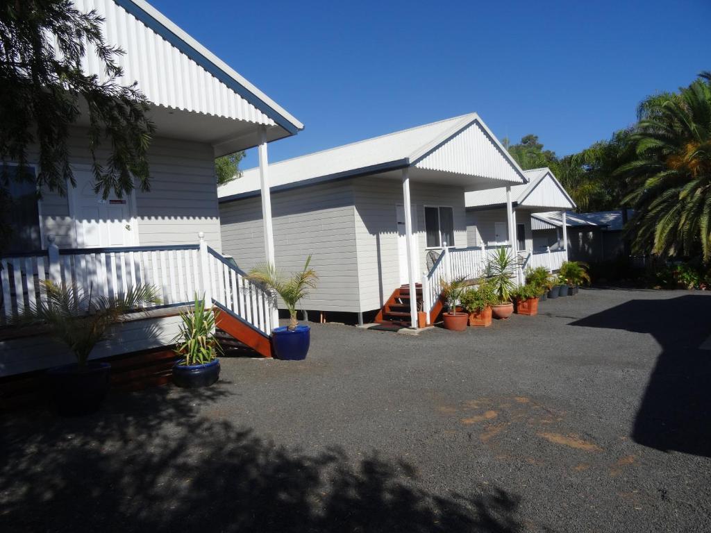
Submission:
{"label": "white picket railing of nearest cabin's porch and stairs", "polygon": [[199,244],[117,248],[59,249],[52,236],[48,249],[0,259],[0,321],[36,306],[45,280],[88,294],[117,298],[133,286],[152,285],[159,306],[180,306],[205,296],[269,335],[277,325],[269,294],[244,272],[211,249],[204,235]]}

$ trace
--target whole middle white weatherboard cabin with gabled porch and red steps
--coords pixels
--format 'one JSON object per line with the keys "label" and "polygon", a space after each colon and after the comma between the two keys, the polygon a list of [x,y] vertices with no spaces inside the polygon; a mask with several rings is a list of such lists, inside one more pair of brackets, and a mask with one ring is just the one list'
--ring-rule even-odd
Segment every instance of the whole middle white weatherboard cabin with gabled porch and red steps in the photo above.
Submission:
{"label": "whole middle white weatherboard cabin with gabled porch and red steps", "polygon": [[[465,194],[527,181],[472,113],[273,163],[269,183],[277,267],[295,271],[311,254],[319,273],[304,308],[362,318],[401,286],[419,294],[439,279],[433,263],[445,244],[452,271],[474,263],[481,250],[467,249]],[[218,194],[223,250],[250,269],[264,261],[260,170]],[[422,292],[432,310],[436,284]],[[398,306],[404,322],[417,311],[415,298]]]}

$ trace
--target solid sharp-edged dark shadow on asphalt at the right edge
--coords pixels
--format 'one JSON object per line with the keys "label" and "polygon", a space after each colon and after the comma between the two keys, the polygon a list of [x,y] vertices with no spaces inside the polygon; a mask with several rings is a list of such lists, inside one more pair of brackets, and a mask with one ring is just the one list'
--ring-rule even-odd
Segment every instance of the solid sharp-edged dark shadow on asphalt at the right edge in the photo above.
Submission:
{"label": "solid sharp-edged dark shadow on asphalt at the right edge", "polygon": [[711,457],[711,297],[632,300],[572,322],[649,333],[662,347],[634,422],[643,446]]}

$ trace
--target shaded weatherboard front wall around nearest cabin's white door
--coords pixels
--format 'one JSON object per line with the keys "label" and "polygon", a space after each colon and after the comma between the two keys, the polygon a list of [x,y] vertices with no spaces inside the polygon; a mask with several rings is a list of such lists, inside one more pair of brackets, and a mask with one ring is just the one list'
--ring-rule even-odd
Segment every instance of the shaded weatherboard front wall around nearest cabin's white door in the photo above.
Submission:
{"label": "shaded weatherboard front wall around nearest cabin's white door", "polygon": [[[87,168],[91,156],[87,132],[73,129],[70,136],[70,161]],[[105,158],[107,151],[98,156]],[[32,160],[32,159],[31,159]],[[220,250],[220,222],[215,163],[209,144],[156,137],[149,148],[150,190],[136,190],[138,242],[136,245],[196,244],[198,233]],[[76,246],[75,227],[66,196],[42,191],[41,219],[43,235],[55,235],[60,248]],[[43,247],[46,247],[46,242]]]}

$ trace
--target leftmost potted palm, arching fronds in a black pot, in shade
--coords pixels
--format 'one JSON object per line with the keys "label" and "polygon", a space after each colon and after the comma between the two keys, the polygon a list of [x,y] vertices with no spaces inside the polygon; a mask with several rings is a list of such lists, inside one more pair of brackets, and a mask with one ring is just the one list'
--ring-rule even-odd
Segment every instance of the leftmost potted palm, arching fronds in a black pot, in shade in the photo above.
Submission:
{"label": "leftmost potted palm, arching fronds in a black pot, in shade", "polygon": [[160,303],[152,286],[135,286],[120,298],[88,294],[73,285],[43,281],[42,298],[18,318],[18,323],[38,325],[68,346],[76,362],[47,371],[50,399],[59,414],[90,414],[101,407],[109,390],[107,362],[90,361],[94,347],[109,337],[109,327],[124,321],[127,313],[149,303]]}

